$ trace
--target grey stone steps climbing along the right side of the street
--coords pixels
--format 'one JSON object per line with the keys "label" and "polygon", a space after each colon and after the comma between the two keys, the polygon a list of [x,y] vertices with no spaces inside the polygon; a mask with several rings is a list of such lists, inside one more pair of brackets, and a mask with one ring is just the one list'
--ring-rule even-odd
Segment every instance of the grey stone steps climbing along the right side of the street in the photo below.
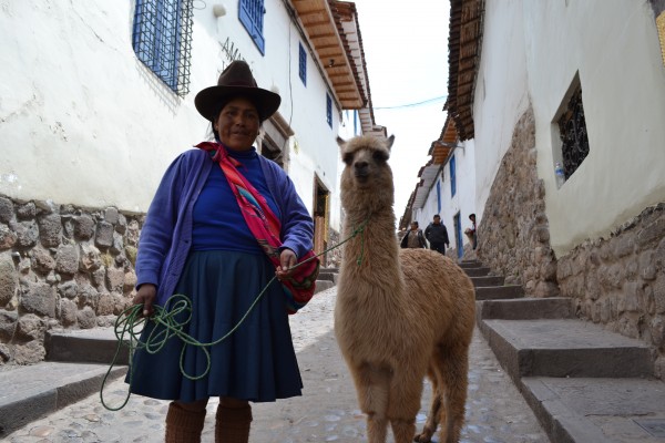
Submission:
{"label": "grey stone steps climbing along the right side of the street", "polygon": [[569,298],[526,297],[480,262],[461,266],[478,329],[552,442],[665,442],[665,383],[644,342],[577,319]]}

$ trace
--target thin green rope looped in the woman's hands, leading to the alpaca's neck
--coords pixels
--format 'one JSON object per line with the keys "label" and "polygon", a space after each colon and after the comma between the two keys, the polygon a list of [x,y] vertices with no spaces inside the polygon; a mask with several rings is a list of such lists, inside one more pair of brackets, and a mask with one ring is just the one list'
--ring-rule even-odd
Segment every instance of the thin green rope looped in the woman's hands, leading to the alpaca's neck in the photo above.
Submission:
{"label": "thin green rope looped in the woman's hands, leading to the alpaca's neck", "polygon": [[[368,222],[369,222],[369,217],[367,217],[367,219],[364,223],[361,223],[360,226],[355,228],[348,238],[338,243],[337,245],[329,247],[328,249],[324,250],[323,253],[320,253],[316,256],[313,256],[313,257],[308,258],[307,260],[304,260],[304,261],[293,266],[291,268],[289,268],[289,270],[296,269],[298,266],[301,266],[309,260],[314,260],[315,258],[320,257],[324,254],[340,247],[345,243],[349,241],[351,238],[361,234],[365,230],[365,228],[367,227]],[[365,236],[361,236],[360,237],[360,255],[358,256],[358,259],[356,260],[358,266],[360,266],[360,264],[362,262],[364,254],[365,254]],[[120,406],[112,408],[112,406],[109,406],[106,404],[106,402],[104,401],[104,387],[106,385],[106,381],[111,374],[111,371],[116,365],[117,357],[120,356],[123,344],[129,348],[129,359],[131,361],[132,356],[134,354],[134,352],[136,350],[143,349],[147,353],[157,353],[162,350],[162,348],[164,348],[164,346],[166,344],[166,341],[168,341],[168,339],[171,339],[173,337],[177,337],[185,343],[185,346],[183,346],[183,349],[181,350],[181,357],[180,357],[180,370],[181,370],[183,377],[185,377],[186,379],[190,379],[190,380],[200,380],[200,379],[206,377],[211,370],[211,353],[207,348],[218,344],[218,343],[223,342],[224,340],[226,340],[228,337],[231,337],[231,334],[233,334],[241,327],[241,324],[243,324],[243,322],[249,316],[249,313],[252,312],[254,307],[262,299],[263,295],[266,292],[266,290],[270,287],[270,285],[276,279],[277,279],[277,276],[274,276],[270,279],[270,281],[268,281],[266,284],[266,286],[256,296],[256,298],[254,299],[254,301],[247,309],[247,312],[245,312],[245,315],[238,320],[238,322],[226,334],[224,334],[219,339],[212,341],[209,343],[200,342],[198,340],[194,339],[192,336],[184,332],[185,326],[192,319],[192,301],[183,295],[180,295],[180,293],[173,295],[171,298],[168,298],[168,300],[166,300],[166,303],[164,303],[163,307],[158,306],[158,305],[154,305],[154,312],[150,318],[142,316],[142,310],[143,310],[142,305],[134,305],[134,306],[131,306],[127,309],[125,309],[115,320],[114,332],[115,332],[115,338],[117,339],[117,344],[115,347],[115,353],[113,356],[113,360],[111,361],[109,370],[106,371],[106,374],[104,375],[104,378],[102,380],[102,387],[100,389],[100,400],[102,402],[102,405],[109,411],[120,411],[127,404],[127,402],[130,401],[130,396],[132,395],[131,385],[132,385],[132,379],[133,379],[134,371],[132,370],[132,365],[130,364],[130,372],[129,372],[130,373],[130,380],[129,380],[130,388],[127,389],[127,394],[126,394],[124,401],[122,402],[122,404]],[[186,317],[182,321],[176,320],[176,317],[178,317],[183,312],[186,312]],[[145,341],[141,341],[141,339],[140,339],[141,333],[143,332],[143,328],[145,327],[145,324],[149,320],[154,321],[157,324],[162,324],[164,328],[155,327],[151,331],[149,337],[145,339]],[[155,332],[155,331],[157,331],[157,329],[161,329],[161,330],[158,332]],[[129,339],[125,339],[125,336],[127,336]],[[206,358],[206,367],[205,367],[205,371],[203,371],[202,374],[191,375],[191,374],[186,373],[186,371],[183,367],[183,359],[184,359],[185,350],[186,350],[187,346],[197,347],[203,350],[205,358]]]}

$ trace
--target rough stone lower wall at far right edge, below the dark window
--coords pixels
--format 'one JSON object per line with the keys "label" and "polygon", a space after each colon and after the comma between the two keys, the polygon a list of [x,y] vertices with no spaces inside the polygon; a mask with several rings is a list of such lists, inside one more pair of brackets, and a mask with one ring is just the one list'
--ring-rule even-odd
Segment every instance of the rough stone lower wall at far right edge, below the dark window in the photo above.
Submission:
{"label": "rough stone lower wall at far right edge, below the dark window", "polygon": [[556,275],[581,317],[654,346],[655,375],[665,378],[665,203],[579,245]]}

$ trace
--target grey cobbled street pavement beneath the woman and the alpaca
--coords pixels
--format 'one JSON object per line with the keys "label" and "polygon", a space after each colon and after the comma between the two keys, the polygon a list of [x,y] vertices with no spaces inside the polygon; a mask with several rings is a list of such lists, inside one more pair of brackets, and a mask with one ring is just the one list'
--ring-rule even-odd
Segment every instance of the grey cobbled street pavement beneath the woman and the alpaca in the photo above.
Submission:
{"label": "grey cobbled street pavement beneath the woman and the alpaca", "polygon": [[[366,441],[365,418],[332,332],[336,288],[315,296],[291,316],[291,332],[303,381],[300,398],[253,404],[252,443]],[[108,384],[111,408],[126,395],[122,379]],[[431,389],[426,382],[418,426],[426,420]],[[120,411],[106,410],[99,393],[33,421],[9,434],[10,443],[162,442],[167,402],[132,396]],[[211,400],[203,442],[213,442],[216,402]],[[434,437],[438,442],[438,439]],[[531,409],[518,392],[481,333],[475,330],[470,358],[466,443],[549,442]],[[389,442],[392,442],[389,437]]]}

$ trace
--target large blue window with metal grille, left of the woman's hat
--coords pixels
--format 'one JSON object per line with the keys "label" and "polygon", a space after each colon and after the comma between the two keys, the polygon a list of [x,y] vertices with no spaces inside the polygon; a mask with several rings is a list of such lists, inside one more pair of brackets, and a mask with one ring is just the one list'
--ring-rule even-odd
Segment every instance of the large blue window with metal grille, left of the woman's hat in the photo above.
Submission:
{"label": "large blue window with metal grille, left of the woman's hat", "polygon": [[132,45],[173,92],[190,92],[193,0],[136,0]]}

